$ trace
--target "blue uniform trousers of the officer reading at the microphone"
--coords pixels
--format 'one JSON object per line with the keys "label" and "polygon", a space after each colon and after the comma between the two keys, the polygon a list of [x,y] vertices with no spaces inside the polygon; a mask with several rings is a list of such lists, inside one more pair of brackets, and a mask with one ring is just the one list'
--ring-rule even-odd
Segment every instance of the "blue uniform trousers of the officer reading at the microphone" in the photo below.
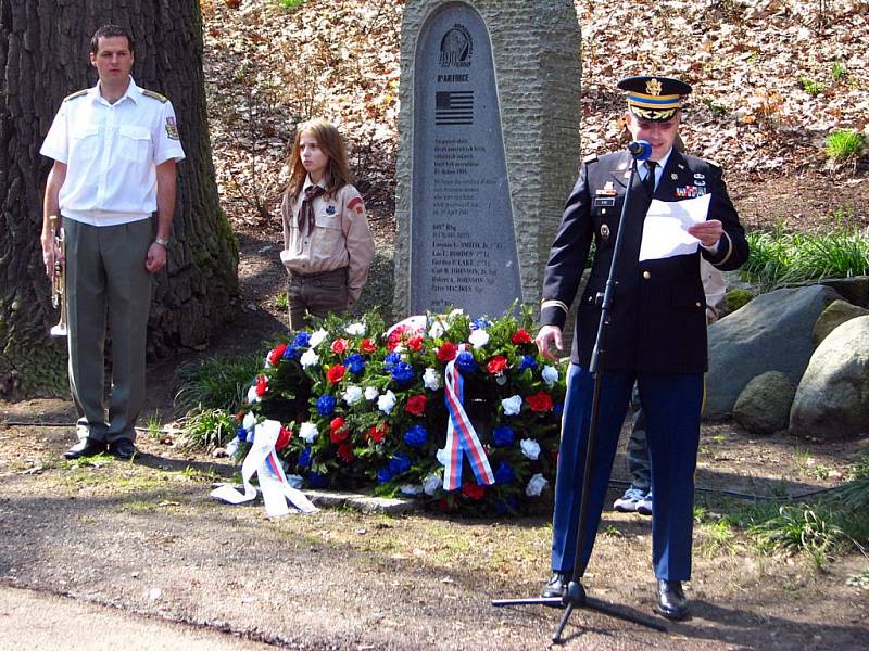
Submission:
{"label": "blue uniform trousers of the officer reading at the microphone", "polygon": [[[575,564],[585,442],[594,391],[594,379],[584,367],[571,363],[567,381],[555,483],[552,539],[552,569],[555,572],[570,572]],[[691,577],[694,522],[694,469],[703,404],[701,373],[604,373],[580,570],[584,573],[594,546],[634,381],[646,416],[652,462],[652,561],[655,576],[666,580],[688,580]]]}

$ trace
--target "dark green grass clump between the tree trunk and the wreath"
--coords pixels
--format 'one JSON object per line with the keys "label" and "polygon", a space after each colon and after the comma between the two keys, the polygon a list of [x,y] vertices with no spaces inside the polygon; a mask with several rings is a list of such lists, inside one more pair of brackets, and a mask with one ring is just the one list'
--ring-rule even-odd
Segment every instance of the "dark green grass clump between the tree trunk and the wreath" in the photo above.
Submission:
{"label": "dark green grass clump between the tree trunk and the wreath", "polygon": [[235,413],[243,404],[251,380],[263,368],[264,358],[264,354],[247,354],[184,365],[176,372],[180,388],[175,406],[185,412],[200,408]]}

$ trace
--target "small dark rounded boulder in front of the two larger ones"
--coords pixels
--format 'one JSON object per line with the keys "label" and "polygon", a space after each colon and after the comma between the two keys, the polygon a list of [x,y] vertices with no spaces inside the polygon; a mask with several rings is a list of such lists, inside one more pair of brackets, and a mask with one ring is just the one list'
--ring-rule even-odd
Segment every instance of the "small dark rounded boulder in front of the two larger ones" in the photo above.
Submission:
{"label": "small dark rounded boulder in front of the two larger ones", "polygon": [[788,429],[796,385],[779,371],[754,378],[736,398],[733,420],[752,434],[772,434]]}

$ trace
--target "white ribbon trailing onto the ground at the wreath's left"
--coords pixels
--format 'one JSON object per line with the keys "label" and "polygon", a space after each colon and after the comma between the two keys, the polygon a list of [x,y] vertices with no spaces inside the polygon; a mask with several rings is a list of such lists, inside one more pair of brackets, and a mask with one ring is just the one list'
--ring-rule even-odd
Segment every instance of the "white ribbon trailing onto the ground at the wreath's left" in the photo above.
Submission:
{"label": "white ribbon trailing onto the ground at the wreath's left", "polygon": [[[256,497],[256,488],[251,485],[253,475],[257,475],[260,489],[263,492],[263,503],[267,518],[287,515],[291,511],[313,513],[317,508],[311,503],[305,494],[290,486],[284,467],[275,451],[275,443],[280,434],[278,421],[266,420],[253,429],[253,445],[241,464],[241,478],[244,493],[229,485],[218,486],[211,492],[211,497],[230,505],[240,505]],[[287,500],[294,507],[290,508]]]}

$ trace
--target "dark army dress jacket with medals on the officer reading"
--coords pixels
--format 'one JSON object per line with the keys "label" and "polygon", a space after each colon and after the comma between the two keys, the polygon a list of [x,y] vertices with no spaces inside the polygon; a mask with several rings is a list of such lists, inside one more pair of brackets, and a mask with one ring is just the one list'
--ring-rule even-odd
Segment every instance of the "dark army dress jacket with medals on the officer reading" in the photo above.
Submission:
{"label": "dark army dress jacket with medals on the officer reading", "polygon": [[[544,326],[564,328],[594,241],[589,282],[577,314],[571,361],[588,368],[616,242],[632,158],[620,152],[590,156],[562,216],[543,280]],[[670,152],[654,199],[672,202],[711,194],[707,219],[718,219],[723,234],[715,254],[696,253],[639,261],[643,221],[652,197],[634,178],[617,269],[602,369],[657,373],[706,371],[706,299],[700,275],[703,255],[718,269],[736,269],[748,256],[745,233],[727,193],[721,169],[707,161]]]}

